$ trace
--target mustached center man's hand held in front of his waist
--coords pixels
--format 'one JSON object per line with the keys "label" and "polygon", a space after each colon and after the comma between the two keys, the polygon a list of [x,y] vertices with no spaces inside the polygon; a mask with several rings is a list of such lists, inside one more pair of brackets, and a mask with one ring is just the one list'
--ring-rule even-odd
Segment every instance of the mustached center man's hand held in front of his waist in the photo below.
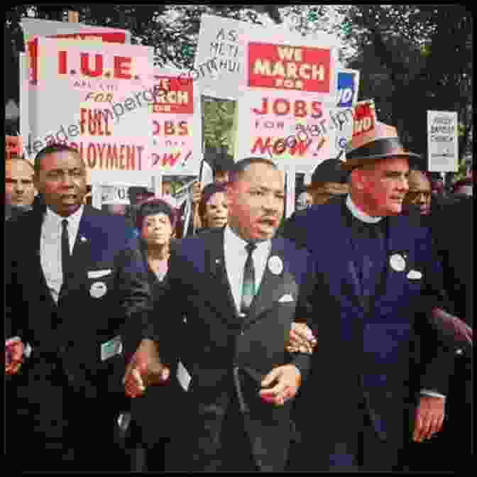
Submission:
{"label": "mustached center man's hand held in front of his waist", "polygon": [[[263,378],[262,388],[267,389],[260,391],[260,397],[265,402],[273,402],[275,405],[282,406],[285,401],[295,397],[301,381],[302,375],[294,364],[278,366]],[[268,388],[274,382],[273,388]]]}

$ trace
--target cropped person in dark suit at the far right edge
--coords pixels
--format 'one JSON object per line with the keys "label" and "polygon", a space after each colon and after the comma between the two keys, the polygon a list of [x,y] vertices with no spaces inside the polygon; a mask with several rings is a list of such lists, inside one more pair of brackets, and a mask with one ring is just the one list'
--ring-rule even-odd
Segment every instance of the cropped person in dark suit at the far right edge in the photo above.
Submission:
{"label": "cropped person in dark suit at the far right edge", "polygon": [[[429,226],[444,269],[444,289],[449,295],[449,313],[439,312],[432,324],[442,341],[455,351],[454,374],[449,380],[448,419],[443,432],[412,470],[464,471],[473,457],[471,420],[473,395],[473,201],[461,197],[430,215]],[[458,453],[450,452],[456,449]],[[419,454],[417,449],[412,449]],[[457,458],[456,458],[457,457]],[[426,466],[425,462],[432,462]]]}

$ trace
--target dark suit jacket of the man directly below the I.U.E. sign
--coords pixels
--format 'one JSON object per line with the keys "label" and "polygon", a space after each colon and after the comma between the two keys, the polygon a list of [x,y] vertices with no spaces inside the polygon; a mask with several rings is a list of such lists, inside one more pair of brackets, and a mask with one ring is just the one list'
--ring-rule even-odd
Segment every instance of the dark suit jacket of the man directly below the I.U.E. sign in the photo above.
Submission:
{"label": "dark suit jacket of the man directly below the I.U.E. sign", "polygon": [[[102,361],[100,346],[118,335],[126,338],[128,327],[146,321],[152,305],[137,238],[123,218],[85,205],[58,306],[40,263],[42,222],[43,210],[34,208],[6,223],[6,320],[9,333],[33,348],[22,366],[17,405],[41,406],[44,422],[48,413],[62,419],[61,385],[67,385],[80,399],[93,399],[92,409],[114,414],[125,404],[126,356]],[[104,295],[95,297],[95,286],[104,287]],[[51,377],[58,368],[65,376],[61,385]]]}

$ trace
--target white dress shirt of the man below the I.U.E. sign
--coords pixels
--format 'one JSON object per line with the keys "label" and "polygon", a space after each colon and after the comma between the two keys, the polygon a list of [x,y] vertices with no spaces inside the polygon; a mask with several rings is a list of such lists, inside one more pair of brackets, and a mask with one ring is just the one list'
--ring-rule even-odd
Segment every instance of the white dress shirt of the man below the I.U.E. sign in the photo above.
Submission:
{"label": "white dress shirt of the man below the I.U.E. sign", "polygon": [[79,207],[77,212],[68,217],[55,214],[47,207],[43,216],[40,239],[40,261],[45,275],[46,284],[55,303],[58,302],[61,286],[63,284],[63,271],[61,263],[61,233],[62,221],[68,221],[68,236],[70,239],[70,253],[73,253],[76,236],[79,229],[79,221],[83,214],[84,206]]}

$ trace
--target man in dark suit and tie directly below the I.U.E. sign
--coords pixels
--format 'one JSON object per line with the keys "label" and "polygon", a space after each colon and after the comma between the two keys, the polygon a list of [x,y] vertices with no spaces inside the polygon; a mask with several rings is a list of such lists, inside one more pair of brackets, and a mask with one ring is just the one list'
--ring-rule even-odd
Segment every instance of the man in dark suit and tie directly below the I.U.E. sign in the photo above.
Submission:
{"label": "man in dark suit and tie directly below the I.U.E. sign", "polygon": [[7,456],[22,470],[119,470],[121,337],[151,309],[137,238],[123,217],[83,204],[74,149],[41,150],[34,177],[43,201],[6,223],[8,331],[32,348],[11,369]]}

